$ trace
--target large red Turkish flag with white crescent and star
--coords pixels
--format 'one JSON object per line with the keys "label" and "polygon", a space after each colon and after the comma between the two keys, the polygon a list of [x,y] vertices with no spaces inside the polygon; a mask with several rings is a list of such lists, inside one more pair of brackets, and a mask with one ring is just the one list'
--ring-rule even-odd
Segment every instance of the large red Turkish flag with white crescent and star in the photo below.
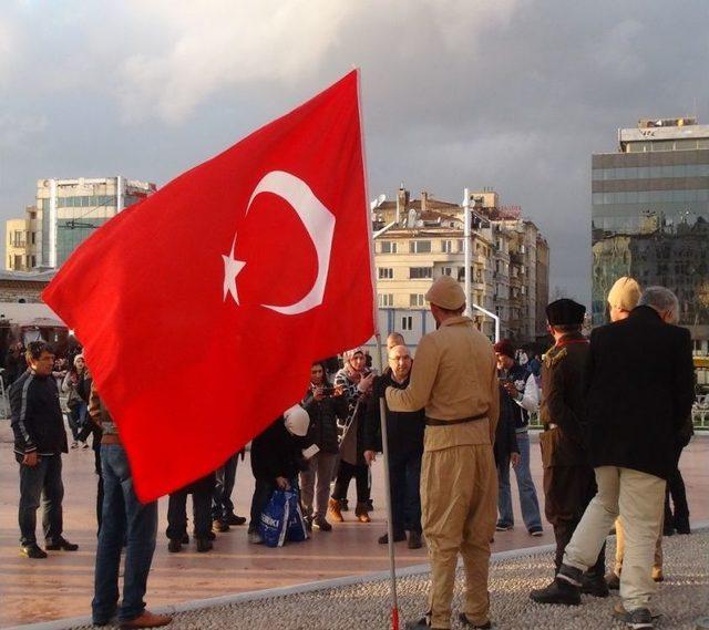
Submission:
{"label": "large red Turkish flag with white crescent and star", "polygon": [[358,72],[96,230],[42,293],[84,345],[135,487],[218,466],[374,332]]}

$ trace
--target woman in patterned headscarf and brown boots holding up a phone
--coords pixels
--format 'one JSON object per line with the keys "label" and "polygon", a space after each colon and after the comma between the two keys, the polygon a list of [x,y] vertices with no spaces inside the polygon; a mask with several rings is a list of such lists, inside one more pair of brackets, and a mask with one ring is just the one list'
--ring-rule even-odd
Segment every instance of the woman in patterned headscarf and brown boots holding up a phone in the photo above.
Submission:
{"label": "woman in patterned headscarf and brown boots holding up a phone", "polygon": [[345,432],[340,441],[340,464],[335,490],[330,497],[329,514],[332,520],[342,523],[342,503],[347,500],[350,481],[357,483],[357,508],[354,516],[360,523],[369,523],[369,466],[364,461],[364,414],[370,395],[373,372],[367,368],[367,358],[361,348],[342,354],[345,366],[335,375],[335,386],[343,391],[348,403]]}

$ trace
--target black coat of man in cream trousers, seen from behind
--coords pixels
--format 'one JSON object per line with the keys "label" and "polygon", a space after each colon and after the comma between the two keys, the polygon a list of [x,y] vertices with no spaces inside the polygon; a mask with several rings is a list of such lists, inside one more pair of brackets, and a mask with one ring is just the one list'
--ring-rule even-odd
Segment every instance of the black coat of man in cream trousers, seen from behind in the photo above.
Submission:
{"label": "black coat of man in cream trousers, seen from behind", "polygon": [[695,400],[689,331],[635,308],[593,331],[586,385],[594,467],[666,479]]}

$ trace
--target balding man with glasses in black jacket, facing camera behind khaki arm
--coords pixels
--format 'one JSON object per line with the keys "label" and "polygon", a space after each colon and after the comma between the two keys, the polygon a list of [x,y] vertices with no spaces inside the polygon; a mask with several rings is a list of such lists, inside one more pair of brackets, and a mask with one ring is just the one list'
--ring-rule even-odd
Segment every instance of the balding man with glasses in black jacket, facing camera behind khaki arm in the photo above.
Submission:
{"label": "balding man with glasses in black jacket, facing camera behind khaki arm", "polygon": [[[381,376],[374,376],[367,407],[364,424],[364,459],[368,464],[382,450],[379,400],[387,388],[405,390],[411,374],[411,353],[405,345],[394,345],[389,351],[389,369]],[[414,412],[393,412],[387,410],[387,437],[389,446],[389,481],[391,488],[391,512],[394,543],[407,539],[409,548],[421,548],[421,458],[423,457],[423,433],[425,413],[421,409]],[[379,538],[381,545],[389,543],[384,534]]]}

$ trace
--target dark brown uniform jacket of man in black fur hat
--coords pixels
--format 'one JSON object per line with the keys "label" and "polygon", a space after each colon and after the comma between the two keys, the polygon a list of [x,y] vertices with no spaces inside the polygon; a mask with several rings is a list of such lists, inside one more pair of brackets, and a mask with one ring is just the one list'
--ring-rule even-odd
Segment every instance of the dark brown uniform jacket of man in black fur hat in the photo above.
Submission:
{"label": "dark brown uniform jacket of man in black fur hat", "polygon": [[[588,466],[584,417],[584,371],[588,341],[580,332],[562,338],[544,358],[540,419],[542,464],[551,466]],[[549,425],[556,425],[552,428]]]}

